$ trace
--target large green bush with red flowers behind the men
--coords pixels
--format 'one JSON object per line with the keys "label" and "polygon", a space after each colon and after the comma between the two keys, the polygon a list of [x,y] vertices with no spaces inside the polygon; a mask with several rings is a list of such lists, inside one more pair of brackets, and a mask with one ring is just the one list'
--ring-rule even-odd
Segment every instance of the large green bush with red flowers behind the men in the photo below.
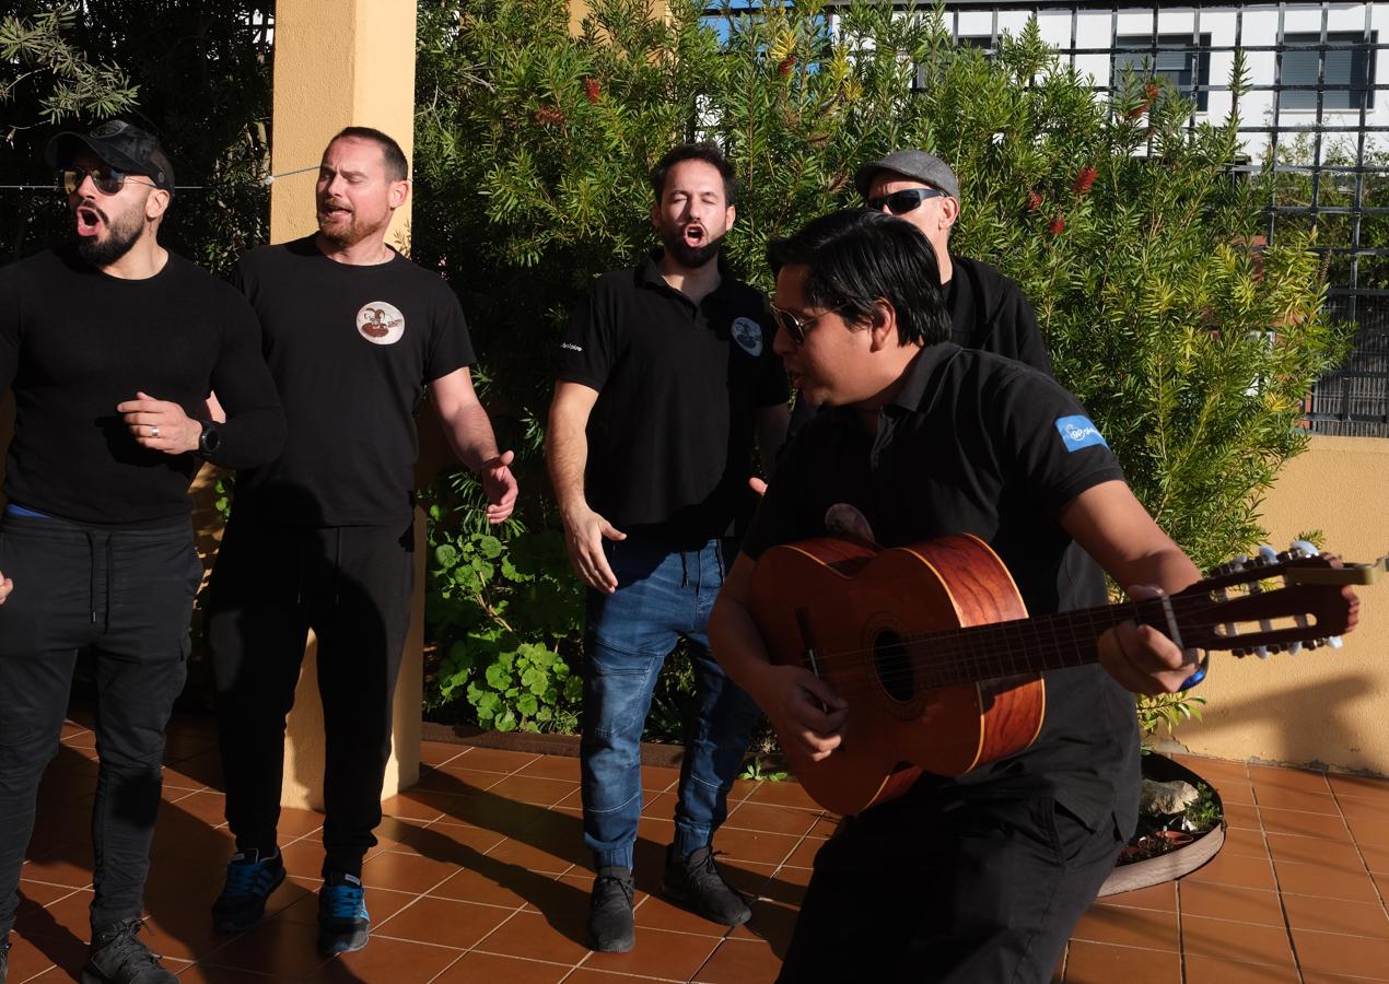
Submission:
{"label": "large green bush with red flowers behind the men", "polygon": [[[857,204],[854,168],[917,146],[960,175],[958,251],[1022,283],[1058,378],[1163,527],[1201,566],[1260,538],[1260,498],[1306,440],[1301,400],[1347,332],[1322,314],[1311,233],[1250,248],[1270,176],[1232,172],[1238,118],[1189,126],[1188,103],[1133,75],[1099,99],[1035,22],[989,58],[956,47],[940,10],[764,4],[724,35],[703,11],[594,0],[571,36],[564,0],[421,6],[417,215],[429,222],[414,255],[464,296],[504,394],[492,409],[529,436],[522,469],[539,479],[568,312],[594,275],[656,241],[646,172],[674,143],[725,147],[745,183],[726,255],[764,290],[770,239]],[[544,487],[524,483],[531,529],[553,523]],[[504,555],[503,543],[483,559]],[[572,579],[561,551],[553,562],[544,576]],[[457,638],[439,645],[451,654]],[[489,652],[469,684],[503,659]]]}

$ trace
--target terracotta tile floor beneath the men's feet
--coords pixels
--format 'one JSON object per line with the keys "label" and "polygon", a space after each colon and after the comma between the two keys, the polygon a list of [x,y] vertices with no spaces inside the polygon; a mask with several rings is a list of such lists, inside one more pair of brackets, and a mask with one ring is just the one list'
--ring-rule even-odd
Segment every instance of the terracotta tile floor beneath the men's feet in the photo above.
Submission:
{"label": "terracotta tile floor beneath the men's feet", "polygon": [[[90,902],[93,734],[79,722],[43,784],[21,883],[10,983],[71,980]],[[211,931],[207,908],[231,840],[210,722],[171,726],[165,804],[147,888],[153,945],[188,981],[771,981],[833,829],[793,783],[739,783],[718,847],[756,897],[749,926],[713,926],[651,894],[671,840],[674,769],[643,769],[638,947],[583,945],[586,894],[571,758],[426,743],[419,784],[385,804],[368,858],[372,941],[335,960],[314,952],[321,817],[286,811],[290,877],[267,923]],[[1238,762],[1190,762],[1220,788],[1228,841],[1206,867],[1096,904],[1057,969],[1070,984],[1243,984],[1389,980],[1389,781]]]}

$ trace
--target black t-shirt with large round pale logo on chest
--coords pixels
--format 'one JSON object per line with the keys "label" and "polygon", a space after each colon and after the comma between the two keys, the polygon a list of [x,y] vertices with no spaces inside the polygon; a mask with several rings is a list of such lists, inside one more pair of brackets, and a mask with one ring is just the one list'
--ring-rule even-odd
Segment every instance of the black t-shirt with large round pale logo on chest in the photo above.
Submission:
{"label": "black t-shirt with large round pale logo on chest", "polygon": [[401,255],[325,257],[314,237],[253,250],[235,285],[260,316],[289,439],[236,477],[236,515],[288,526],[408,522],[424,386],[474,362],[458,298]]}

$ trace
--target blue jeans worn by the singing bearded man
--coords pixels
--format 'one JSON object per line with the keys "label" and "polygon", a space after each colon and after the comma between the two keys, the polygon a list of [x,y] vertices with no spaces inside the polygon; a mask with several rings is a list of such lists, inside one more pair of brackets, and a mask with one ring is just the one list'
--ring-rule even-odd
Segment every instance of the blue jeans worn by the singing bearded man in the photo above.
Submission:
{"label": "blue jeans worn by the singing bearded man", "polygon": [[583,668],[583,842],[599,867],[632,867],[642,813],[642,729],[665,656],[689,643],[699,718],[681,766],[675,848],[706,844],[728,815],[728,791],[761,713],[708,652],[708,613],[724,583],[718,540],[700,550],[608,544],[613,594],[589,591]]}

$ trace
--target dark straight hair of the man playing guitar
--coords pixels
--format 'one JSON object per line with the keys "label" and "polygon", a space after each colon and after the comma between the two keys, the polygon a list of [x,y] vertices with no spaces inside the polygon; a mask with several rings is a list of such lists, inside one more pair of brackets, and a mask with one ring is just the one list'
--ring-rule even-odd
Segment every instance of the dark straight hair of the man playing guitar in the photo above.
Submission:
{"label": "dark straight hair of the man playing guitar", "polygon": [[886,300],[897,312],[897,341],[933,346],[950,337],[950,315],[940,294],[936,251],[911,223],[846,208],[807,222],[790,239],[767,246],[772,273],[806,265],[806,301],[838,308],[850,325],[872,319]]}

